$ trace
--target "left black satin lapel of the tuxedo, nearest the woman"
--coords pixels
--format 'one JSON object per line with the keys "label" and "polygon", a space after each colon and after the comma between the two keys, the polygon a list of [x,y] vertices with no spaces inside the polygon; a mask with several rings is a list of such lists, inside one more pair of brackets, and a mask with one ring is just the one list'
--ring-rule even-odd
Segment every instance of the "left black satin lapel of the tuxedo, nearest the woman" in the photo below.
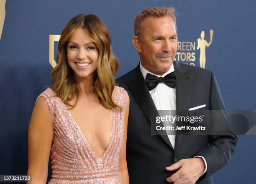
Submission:
{"label": "left black satin lapel of the tuxedo, nearest the woman", "polygon": [[[148,119],[148,122],[151,123],[151,110],[156,110],[156,106],[148,91],[146,82],[143,79],[143,75],[141,74],[141,69],[139,65],[133,70],[130,80],[125,81],[125,84],[129,88],[136,102],[138,103],[138,106],[141,108],[143,114]],[[167,134],[160,136],[173,149]]]}

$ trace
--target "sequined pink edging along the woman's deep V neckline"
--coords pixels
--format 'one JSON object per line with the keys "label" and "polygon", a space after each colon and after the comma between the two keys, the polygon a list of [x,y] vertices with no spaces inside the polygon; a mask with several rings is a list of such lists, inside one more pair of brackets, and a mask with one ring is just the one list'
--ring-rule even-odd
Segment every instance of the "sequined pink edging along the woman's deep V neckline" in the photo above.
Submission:
{"label": "sequined pink edging along the woman's deep V neckline", "polygon": [[108,152],[108,150],[110,149],[110,146],[111,146],[111,143],[113,142],[112,141],[112,138],[113,138],[113,133],[114,133],[114,129],[115,129],[115,109],[113,110],[113,117],[112,117],[112,127],[111,127],[111,133],[110,133],[110,141],[108,143],[108,146],[107,148],[105,149],[105,151],[102,153],[102,155],[100,157],[98,157],[96,155],[96,153],[92,150],[92,147],[90,146],[89,142],[87,141],[87,138],[85,137],[84,135],[84,132],[82,131],[82,129],[80,128],[80,126],[77,124],[76,120],[74,120],[71,112],[67,109],[67,106],[62,102],[62,105],[64,105],[65,107],[65,110],[69,116],[69,118],[72,120],[72,123],[76,126],[76,128],[78,129],[79,133],[81,133],[83,139],[84,139],[84,142],[86,143],[87,145],[87,148],[89,149],[89,151],[92,153],[92,156],[95,158],[95,159],[101,159],[105,156],[105,154]]}

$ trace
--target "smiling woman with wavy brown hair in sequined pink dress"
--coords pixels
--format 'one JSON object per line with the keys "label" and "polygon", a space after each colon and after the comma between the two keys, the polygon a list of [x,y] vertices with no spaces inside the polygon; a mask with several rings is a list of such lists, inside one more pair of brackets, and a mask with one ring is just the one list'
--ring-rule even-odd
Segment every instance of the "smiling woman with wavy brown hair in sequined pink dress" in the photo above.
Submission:
{"label": "smiling woman with wavy brown hair in sequined pink dress", "polygon": [[52,87],[38,96],[28,129],[28,183],[128,184],[127,92],[96,15],[77,15],[61,33]]}

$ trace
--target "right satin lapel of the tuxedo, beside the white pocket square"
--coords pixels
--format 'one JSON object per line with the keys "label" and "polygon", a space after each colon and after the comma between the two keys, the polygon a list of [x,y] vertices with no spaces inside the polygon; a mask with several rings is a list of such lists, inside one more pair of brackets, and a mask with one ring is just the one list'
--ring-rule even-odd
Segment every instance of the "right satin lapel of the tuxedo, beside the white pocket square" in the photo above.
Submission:
{"label": "right satin lapel of the tuxedo, beside the white pocket square", "polygon": [[[174,69],[177,77],[176,109],[188,110],[191,98],[193,74],[181,64],[174,61]],[[179,148],[183,135],[176,135],[174,152]]]}

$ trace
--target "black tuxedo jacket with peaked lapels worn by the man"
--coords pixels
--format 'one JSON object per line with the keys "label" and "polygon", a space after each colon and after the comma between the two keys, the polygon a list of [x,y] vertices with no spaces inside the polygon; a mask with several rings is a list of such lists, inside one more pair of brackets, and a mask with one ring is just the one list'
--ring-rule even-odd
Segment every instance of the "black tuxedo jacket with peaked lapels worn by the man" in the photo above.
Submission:
{"label": "black tuxedo jacket with peaked lapels worn by the man", "polygon": [[[204,110],[225,110],[214,74],[196,66],[174,61],[177,77],[177,110],[206,105]],[[198,184],[213,184],[211,174],[228,164],[237,137],[226,135],[176,135],[175,148],[167,135],[151,135],[151,110],[156,106],[138,65],[117,79],[130,97],[127,135],[127,165],[131,184],[167,184],[174,172],[165,167],[184,158],[203,156],[207,172]]]}

